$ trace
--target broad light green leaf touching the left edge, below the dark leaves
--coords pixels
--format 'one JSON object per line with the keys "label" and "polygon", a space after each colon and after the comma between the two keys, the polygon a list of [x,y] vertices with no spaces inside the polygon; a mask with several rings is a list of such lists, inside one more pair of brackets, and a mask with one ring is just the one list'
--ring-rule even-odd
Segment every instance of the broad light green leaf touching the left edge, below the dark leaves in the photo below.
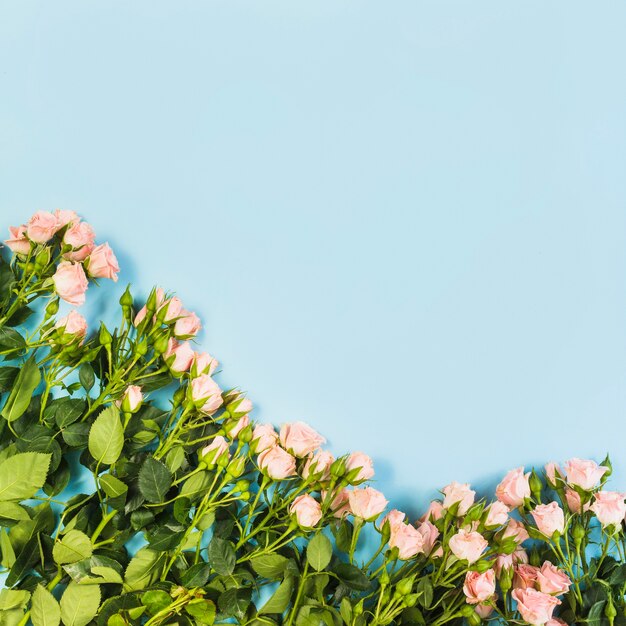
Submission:
{"label": "broad light green leaf touching the left edge, below the dark leaves", "polygon": [[0,463],[0,501],[32,498],[46,482],[50,454],[22,452]]}

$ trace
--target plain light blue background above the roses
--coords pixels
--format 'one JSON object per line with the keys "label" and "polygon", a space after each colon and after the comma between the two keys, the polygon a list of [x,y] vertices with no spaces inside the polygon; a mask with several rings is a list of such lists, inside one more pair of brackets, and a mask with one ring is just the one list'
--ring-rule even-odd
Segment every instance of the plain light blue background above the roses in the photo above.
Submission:
{"label": "plain light blue background above the roses", "polygon": [[[4,2],[0,214],[176,290],[255,417],[452,479],[626,488],[623,2]],[[102,290],[104,291],[104,290]],[[92,299],[95,294],[91,294]]]}

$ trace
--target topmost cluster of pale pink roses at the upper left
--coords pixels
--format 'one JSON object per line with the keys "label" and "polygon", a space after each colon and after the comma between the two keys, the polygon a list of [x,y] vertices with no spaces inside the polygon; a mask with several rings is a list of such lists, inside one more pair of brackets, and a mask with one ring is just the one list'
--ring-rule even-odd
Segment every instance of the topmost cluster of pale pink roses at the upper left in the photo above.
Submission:
{"label": "topmost cluster of pale pink roses at the upper left", "polygon": [[[52,243],[60,246],[58,258],[51,258]],[[58,262],[52,276],[57,295],[74,306],[85,302],[91,278],[117,280],[120,270],[108,243],[96,245],[93,228],[74,211],[37,211],[26,224],[9,228],[5,244],[22,258],[33,257],[45,264]]]}

